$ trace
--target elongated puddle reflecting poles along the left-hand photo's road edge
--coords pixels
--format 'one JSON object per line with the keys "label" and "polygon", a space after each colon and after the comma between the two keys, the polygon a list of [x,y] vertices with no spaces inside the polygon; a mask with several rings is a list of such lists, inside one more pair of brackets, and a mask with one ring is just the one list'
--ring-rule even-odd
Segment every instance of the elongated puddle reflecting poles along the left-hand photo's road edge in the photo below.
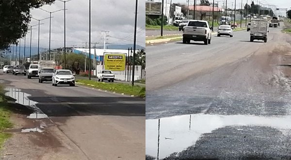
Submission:
{"label": "elongated puddle reflecting poles along the left-hand photo's road edge", "polygon": [[27,118],[30,119],[42,119],[48,118],[48,115],[44,114],[38,107],[36,107],[37,102],[30,100],[28,97],[31,96],[27,93],[21,92],[18,88],[6,88],[6,96],[10,96],[16,99],[15,103],[32,108],[34,111]]}

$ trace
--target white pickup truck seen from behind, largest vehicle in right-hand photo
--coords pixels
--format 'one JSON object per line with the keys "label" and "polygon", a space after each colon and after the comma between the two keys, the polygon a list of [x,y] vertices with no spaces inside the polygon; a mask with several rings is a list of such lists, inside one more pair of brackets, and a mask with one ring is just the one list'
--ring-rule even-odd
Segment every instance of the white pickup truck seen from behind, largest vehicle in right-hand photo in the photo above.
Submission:
{"label": "white pickup truck seen from behind, largest vehicle in right-hand photo", "polygon": [[183,29],[183,43],[193,41],[203,41],[205,45],[211,42],[211,30],[208,22],[205,20],[189,20],[187,26]]}

